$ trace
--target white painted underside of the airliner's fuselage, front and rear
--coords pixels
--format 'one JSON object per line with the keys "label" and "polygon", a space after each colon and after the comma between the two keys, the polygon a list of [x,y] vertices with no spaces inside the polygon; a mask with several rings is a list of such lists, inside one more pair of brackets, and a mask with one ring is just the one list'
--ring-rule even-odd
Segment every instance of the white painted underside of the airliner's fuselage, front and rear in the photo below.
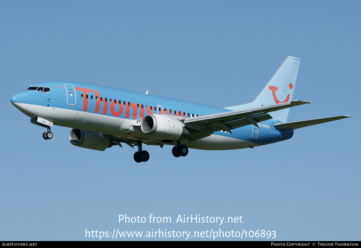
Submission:
{"label": "white painted underside of the airliner's fuselage, front and rear", "polygon": [[[163,138],[143,134],[139,126],[134,126],[136,120],[119,117],[88,113],[83,111],[68,110],[64,108],[45,107],[25,103],[13,103],[20,111],[32,118],[43,118],[52,121],[55,125],[83,129],[92,132],[106,133],[130,140],[142,140],[161,143]],[[137,125],[137,124],[135,124]],[[175,145],[176,142],[163,143]],[[189,144],[186,138],[181,139],[181,144],[189,148],[201,150],[232,150],[242,149],[257,144],[237,138],[212,134],[211,136],[196,140]]]}

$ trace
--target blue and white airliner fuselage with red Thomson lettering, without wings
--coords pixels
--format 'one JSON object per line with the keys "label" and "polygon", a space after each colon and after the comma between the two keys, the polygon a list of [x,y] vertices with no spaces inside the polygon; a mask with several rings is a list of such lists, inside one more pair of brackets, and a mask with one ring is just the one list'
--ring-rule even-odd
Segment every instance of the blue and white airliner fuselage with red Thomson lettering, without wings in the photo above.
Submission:
{"label": "blue and white airliner fuselage with red Thomson lettering, without wings", "polygon": [[[79,82],[49,81],[32,87],[44,88],[22,91],[11,98],[11,102],[31,118],[41,117],[52,121],[55,125],[108,133],[124,138],[159,141],[154,137],[148,138],[145,135],[142,137],[134,130],[122,128],[124,120],[133,123],[149,114],[188,118],[230,111],[220,107]],[[272,112],[269,114],[272,116]],[[250,124],[232,129],[232,133],[214,132],[211,138],[200,139],[188,146],[207,150],[239,149],[270,144],[292,137],[293,130],[276,129],[273,126],[275,123],[279,122],[270,119],[258,123],[259,128]],[[214,139],[215,136],[219,138]]]}

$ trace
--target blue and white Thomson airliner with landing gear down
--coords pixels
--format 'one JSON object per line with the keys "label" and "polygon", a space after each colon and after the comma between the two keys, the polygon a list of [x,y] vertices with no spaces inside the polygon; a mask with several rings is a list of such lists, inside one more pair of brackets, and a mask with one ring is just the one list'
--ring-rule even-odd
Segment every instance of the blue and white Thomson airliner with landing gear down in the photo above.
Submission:
{"label": "blue and white Thomson airliner with landing gear down", "polygon": [[99,151],[137,146],[137,163],[149,159],[142,144],[173,145],[174,157],[186,156],[188,148],[254,148],[288,140],[297,128],[352,117],[287,122],[290,107],[311,104],[291,101],[300,62],[287,57],[255,100],[225,108],[68,81],[31,85],[10,101],[31,123],[47,128],[45,140],[53,137],[53,125],[70,127],[69,141],[75,146]]}

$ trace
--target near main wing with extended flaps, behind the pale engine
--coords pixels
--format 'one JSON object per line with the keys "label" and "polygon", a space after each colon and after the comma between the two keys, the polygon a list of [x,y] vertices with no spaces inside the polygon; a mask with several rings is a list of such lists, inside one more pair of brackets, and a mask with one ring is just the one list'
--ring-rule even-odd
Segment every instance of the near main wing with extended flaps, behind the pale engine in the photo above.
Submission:
{"label": "near main wing with extended flaps, behind the pale engine", "polygon": [[[248,108],[245,110],[186,118],[184,119],[185,127],[188,130],[193,131],[188,134],[186,138],[194,141],[221,130],[232,133],[231,129],[243,127],[249,124],[253,124],[258,127],[257,122],[272,119],[268,112],[290,108],[305,103],[311,104],[306,101],[291,101],[262,107]],[[204,134],[196,133],[203,131],[206,132]]]}

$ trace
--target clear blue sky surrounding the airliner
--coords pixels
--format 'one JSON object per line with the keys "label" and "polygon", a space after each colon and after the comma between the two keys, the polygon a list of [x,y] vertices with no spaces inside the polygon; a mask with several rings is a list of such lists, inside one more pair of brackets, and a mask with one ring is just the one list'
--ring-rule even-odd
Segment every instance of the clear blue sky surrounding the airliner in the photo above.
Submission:
{"label": "clear blue sky surrounding the airliner", "polygon": [[[86,228],[360,240],[360,5],[1,1],[0,240],[99,240]],[[313,103],[292,108],[288,121],[353,117],[255,149],[174,158],[171,146],[145,146],[151,158],[136,164],[131,147],[71,145],[70,128],[43,140],[10,103],[31,84],[68,80],[227,107],[251,102],[287,56],[301,58],[293,100]],[[172,223],[119,223],[120,214]],[[243,222],[175,223],[198,214]]]}

